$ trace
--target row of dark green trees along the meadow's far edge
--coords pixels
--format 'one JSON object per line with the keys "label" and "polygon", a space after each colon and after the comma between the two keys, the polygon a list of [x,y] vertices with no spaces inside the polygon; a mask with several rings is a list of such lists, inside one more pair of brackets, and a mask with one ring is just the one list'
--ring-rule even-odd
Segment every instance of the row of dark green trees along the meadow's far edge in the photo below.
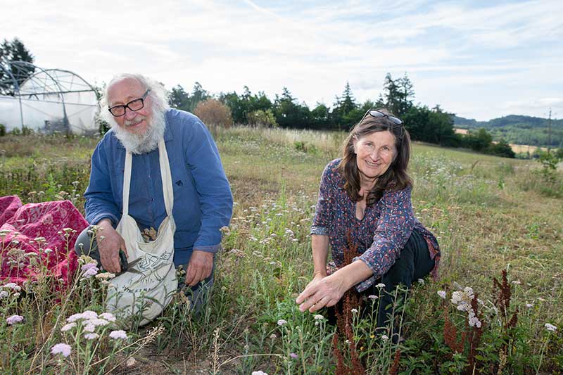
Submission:
{"label": "row of dark green trees along the meadow's far edge", "polygon": [[453,113],[448,113],[438,105],[434,108],[415,105],[414,98],[413,84],[406,73],[397,79],[387,73],[379,97],[375,101],[367,100],[364,103],[355,99],[348,82],[342,94],[335,97],[332,106],[316,103],[312,109],[306,103],[298,101],[286,87],[272,101],[263,91],[253,93],[246,86],[240,94],[230,91],[212,95],[196,82],[191,92],[187,92],[181,85],[173,87],[170,91],[170,106],[200,114],[197,110],[198,103],[218,101],[229,109],[229,121],[235,124],[342,131],[350,130],[370,108],[387,108],[403,120],[405,128],[415,141],[471,148],[482,153],[514,158],[514,152],[507,142],[493,143],[493,137],[485,129],[476,129],[469,134],[456,134]]}

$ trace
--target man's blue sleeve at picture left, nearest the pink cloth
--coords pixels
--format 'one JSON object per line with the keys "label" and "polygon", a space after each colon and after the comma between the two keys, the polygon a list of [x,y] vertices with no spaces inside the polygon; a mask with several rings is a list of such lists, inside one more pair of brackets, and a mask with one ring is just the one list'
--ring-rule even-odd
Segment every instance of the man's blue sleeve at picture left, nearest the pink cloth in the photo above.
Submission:
{"label": "man's blue sleeve at picture left, nearest the pink cloth", "polygon": [[105,139],[99,142],[92,154],[90,182],[84,193],[84,211],[90,224],[108,218],[115,226],[121,218],[121,212],[113,198],[105,144]]}

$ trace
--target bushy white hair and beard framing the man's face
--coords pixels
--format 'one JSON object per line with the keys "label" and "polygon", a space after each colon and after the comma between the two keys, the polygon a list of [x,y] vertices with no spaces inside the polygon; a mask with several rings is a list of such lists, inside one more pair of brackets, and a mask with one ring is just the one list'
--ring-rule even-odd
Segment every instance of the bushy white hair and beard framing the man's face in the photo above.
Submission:
{"label": "bushy white hair and beard framing the man's face", "polygon": [[[110,87],[122,80],[137,80],[145,90],[150,90],[147,97],[151,98],[152,115],[150,119],[147,119],[148,128],[144,134],[127,132],[115,122],[115,118],[108,110],[108,91]],[[125,149],[139,154],[148,153],[158,147],[158,141],[162,138],[166,126],[165,112],[170,106],[168,106],[168,93],[163,84],[144,75],[122,73],[115,75],[108,83],[100,98],[100,108],[100,118],[108,122]]]}

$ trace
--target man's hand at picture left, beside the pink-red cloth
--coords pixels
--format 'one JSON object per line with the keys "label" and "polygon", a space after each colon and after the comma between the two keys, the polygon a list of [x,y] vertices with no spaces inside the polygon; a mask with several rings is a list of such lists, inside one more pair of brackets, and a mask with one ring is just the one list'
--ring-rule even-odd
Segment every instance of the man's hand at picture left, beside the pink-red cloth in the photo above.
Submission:
{"label": "man's hand at picture left, beside the pink-red cloth", "polygon": [[106,271],[118,274],[122,271],[119,262],[119,250],[123,250],[125,255],[127,255],[125,241],[113,229],[109,219],[100,220],[97,225],[100,227],[96,230],[96,242],[100,252],[101,265]]}

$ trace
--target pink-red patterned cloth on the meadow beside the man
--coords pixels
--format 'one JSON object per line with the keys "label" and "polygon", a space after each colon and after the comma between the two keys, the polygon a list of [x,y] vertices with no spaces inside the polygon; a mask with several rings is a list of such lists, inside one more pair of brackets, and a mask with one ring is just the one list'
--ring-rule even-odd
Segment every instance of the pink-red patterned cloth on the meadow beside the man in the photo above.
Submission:
{"label": "pink-red patterned cloth on the meadow beside the man", "polygon": [[68,284],[77,269],[75,241],[87,226],[70,201],[22,205],[17,196],[0,197],[0,279]]}

